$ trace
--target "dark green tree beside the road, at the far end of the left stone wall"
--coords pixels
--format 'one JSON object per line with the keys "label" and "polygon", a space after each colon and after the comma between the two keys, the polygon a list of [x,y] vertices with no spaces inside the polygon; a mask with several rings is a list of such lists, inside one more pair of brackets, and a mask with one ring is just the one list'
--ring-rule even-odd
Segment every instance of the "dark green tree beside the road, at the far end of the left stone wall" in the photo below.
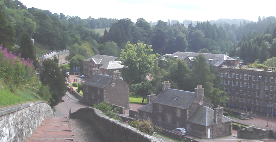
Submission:
{"label": "dark green tree beside the road, at the far end of the left stone wall", "polygon": [[61,98],[65,96],[66,80],[58,67],[58,61],[56,58],[53,60],[45,60],[42,65],[44,70],[40,74],[40,81],[43,85],[49,86],[51,92],[49,103],[53,107],[60,103]]}

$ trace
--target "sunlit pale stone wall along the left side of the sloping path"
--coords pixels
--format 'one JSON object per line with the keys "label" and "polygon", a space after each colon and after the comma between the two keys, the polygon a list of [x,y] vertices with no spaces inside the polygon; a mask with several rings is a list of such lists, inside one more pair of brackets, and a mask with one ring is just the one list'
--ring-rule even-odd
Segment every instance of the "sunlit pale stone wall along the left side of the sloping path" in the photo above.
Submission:
{"label": "sunlit pale stone wall along the left side of the sloping path", "polygon": [[46,117],[53,117],[51,106],[38,101],[0,110],[0,142],[29,139]]}

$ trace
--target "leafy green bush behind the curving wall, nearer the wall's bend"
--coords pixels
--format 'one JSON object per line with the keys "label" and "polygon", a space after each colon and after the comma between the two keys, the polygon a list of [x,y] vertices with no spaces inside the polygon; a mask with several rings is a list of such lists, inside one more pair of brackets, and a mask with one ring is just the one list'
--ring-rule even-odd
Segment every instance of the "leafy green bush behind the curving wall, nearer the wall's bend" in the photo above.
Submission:
{"label": "leafy green bush behind the curving wall, nearer the wall's bend", "polygon": [[112,109],[111,105],[108,105],[107,102],[101,102],[99,105],[94,104],[94,108],[101,110],[106,116],[111,117],[115,120],[121,120],[121,117],[118,116],[119,107]]}

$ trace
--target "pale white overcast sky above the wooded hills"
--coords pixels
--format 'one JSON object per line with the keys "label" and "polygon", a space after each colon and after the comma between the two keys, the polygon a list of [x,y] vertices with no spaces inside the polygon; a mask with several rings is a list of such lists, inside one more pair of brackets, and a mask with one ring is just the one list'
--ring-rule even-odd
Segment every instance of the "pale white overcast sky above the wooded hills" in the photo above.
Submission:
{"label": "pale white overcast sky above the wooded hills", "polygon": [[257,21],[258,17],[275,16],[276,1],[262,0],[19,0],[27,8],[49,10],[52,14],[88,18],[129,18],[136,22],[162,20],[207,21],[246,19]]}

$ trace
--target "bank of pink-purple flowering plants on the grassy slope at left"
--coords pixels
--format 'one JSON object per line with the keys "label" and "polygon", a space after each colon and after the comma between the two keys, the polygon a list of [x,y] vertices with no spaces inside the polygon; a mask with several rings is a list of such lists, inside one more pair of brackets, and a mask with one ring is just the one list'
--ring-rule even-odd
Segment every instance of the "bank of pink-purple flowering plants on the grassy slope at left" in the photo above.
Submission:
{"label": "bank of pink-purple flowering plants on the grassy slope at left", "polygon": [[0,77],[10,79],[16,84],[33,80],[33,62],[30,59],[21,59],[20,55],[16,56],[6,48],[2,50],[0,45]]}

